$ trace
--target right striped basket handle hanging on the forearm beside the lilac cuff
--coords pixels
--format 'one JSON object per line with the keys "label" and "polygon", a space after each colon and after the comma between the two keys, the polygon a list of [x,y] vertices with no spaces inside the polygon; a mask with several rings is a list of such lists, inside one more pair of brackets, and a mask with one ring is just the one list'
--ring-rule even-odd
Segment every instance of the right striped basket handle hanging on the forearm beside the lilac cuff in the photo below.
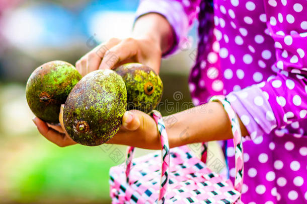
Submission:
{"label": "right striped basket handle hanging on the forearm beside the lilac cuff", "polygon": [[221,102],[231,121],[232,132],[234,135],[235,159],[236,159],[235,189],[241,192],[243,185],[244,160],[243,160],[242,134],[238,117],[236,115],[236,112],[232,108],[231,104],[226,100],[224,96],[213,96],[210,99],[210,101]]}

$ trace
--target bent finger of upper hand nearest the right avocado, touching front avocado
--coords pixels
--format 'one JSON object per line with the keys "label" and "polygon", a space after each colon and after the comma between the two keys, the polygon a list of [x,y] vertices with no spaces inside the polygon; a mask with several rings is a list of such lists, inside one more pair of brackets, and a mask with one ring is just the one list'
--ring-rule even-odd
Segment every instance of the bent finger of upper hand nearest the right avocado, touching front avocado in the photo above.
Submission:
{"label": "bent finger of upper hand nearest the right avocado, touching front avocado", "polygon": [[100,70],[114,69],[114,66],[126,59],[137,54],[137,42],[133,38],[127,38],[121,41],[116,46],[109,49],[99,66]]}

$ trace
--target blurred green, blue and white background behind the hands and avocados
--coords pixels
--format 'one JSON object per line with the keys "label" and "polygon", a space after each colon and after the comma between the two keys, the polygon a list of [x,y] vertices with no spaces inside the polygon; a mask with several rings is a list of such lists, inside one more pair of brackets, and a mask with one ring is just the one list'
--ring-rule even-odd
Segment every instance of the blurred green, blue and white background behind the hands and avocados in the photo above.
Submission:
{"label": "blurred green, blue and white background behind the hands and avocados", "polygon": [[[32,122],[25,85],[40,64],[56,59],[74,64],[98,43],[127,37],[137,5],[132,0],[0,1],[0,203],[110,203],[109,169],[124,162],[126,147],[51,144]],[[192,107],[188,74],[196,53],[195,26],[190,36],[194,40],[179,54],[163,60],[163,115]],[[147,152],[137,150],[136,156]]]}

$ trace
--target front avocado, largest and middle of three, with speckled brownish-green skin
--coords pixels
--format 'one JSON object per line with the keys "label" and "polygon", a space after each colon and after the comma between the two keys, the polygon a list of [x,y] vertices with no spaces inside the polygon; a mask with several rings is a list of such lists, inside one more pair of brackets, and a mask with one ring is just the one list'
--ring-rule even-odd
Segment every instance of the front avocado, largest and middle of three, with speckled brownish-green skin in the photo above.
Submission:
{"label": "front avocado, largest and middle of three, with speckled brownish-green skin", "polygon": [[97,70],[71,90],[63,110],[64,127],[76,143],[101,145],[119,130],[126,108],[123,79],[112,70]]}

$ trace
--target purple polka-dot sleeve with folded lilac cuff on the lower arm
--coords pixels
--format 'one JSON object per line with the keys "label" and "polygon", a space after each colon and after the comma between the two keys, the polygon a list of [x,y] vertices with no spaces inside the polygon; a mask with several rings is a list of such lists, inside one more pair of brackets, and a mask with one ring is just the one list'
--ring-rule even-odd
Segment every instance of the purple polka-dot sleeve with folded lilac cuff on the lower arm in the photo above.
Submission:
{"label": "purple polka-dot sleeve with folded lilac cuff on the lower arm", "polygon": [[[273,129],[291,124],[299,137],[303,134],[307,116],[307,1],[297,12],[294,3],[271,6],[267,3],[267,27],[275,41],[276,62],[279,71],[267,82],[246,88],[227,97],[245,123],[250,136],[255,139]],[[286,20],[291,15],[294,23]],[[281,17],[283,16],[283,21]],[[292,19],[292,17],[288,17]],[[281,23],[282,22],[282,23]],[[248,97],[242,98],[242,96]],[[291,130],[292,131],[292,130]],[[278,133],[277,133],[278,134]]]}

